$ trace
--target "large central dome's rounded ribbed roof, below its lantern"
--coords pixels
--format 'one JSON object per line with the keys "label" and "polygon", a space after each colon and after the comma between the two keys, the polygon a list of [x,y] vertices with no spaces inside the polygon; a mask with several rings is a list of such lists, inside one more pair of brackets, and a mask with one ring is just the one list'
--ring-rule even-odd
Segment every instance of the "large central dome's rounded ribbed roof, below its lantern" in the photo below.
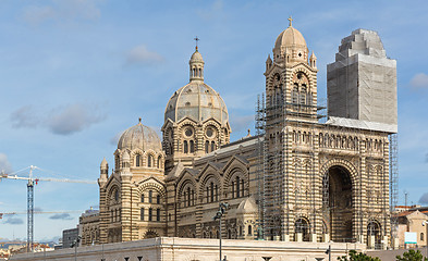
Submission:
{"label": "large central dome's rounded ribbed roof, below its lantern", "polygon": [[228,109],[220,95],[204,82],[194,80],[175,91],[168,101],[164,120],[179,122],[184,117],[196,122],[215,119],[220,124],[229,122]]}

